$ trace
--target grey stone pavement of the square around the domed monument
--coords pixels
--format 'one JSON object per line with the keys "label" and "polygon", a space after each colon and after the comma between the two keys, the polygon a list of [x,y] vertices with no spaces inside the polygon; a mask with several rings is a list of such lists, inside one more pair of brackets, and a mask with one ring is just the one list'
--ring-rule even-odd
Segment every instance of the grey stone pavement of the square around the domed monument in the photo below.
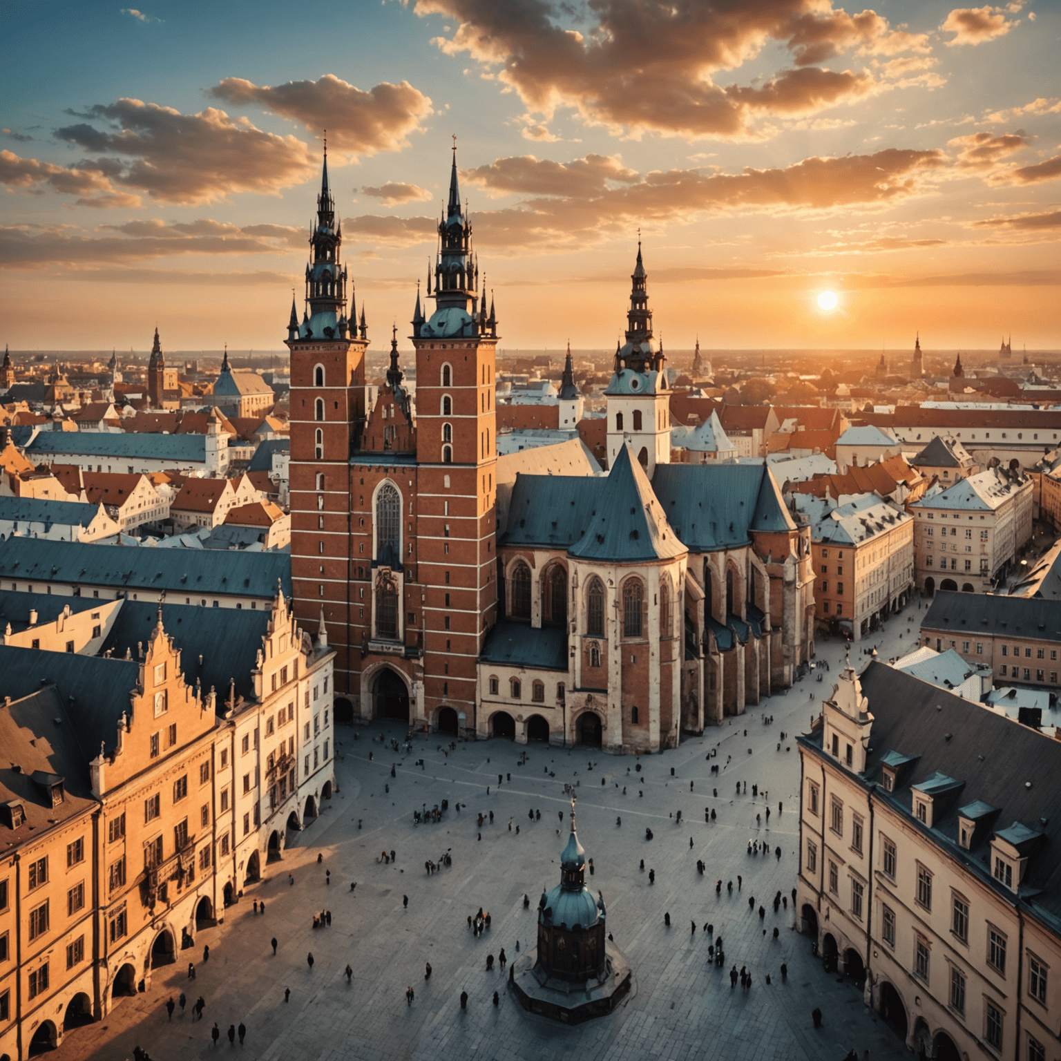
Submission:
{"label": "grey stone pavement of the square around the domed monument", "polygon": [[[852,662],[860,668],[863,648],[874,644],[886,659],[908,650],[921,614],[915,602],[885,631],[856,646]],[[445,755],[438,750],[441,734],[420,734],[412,754],[399,754],[378,737],[401,738],[400,724],[360,728],[358,740],[353,730],[341,729],[338,790],[324,803],[320,817],[281,862],[265,867],[266,880],[226,911],[223,926],[199,932],[195,950],[181,952],[175,966],[156,970],[145,994],[119,1001],[106,1021],[69,1034],[57,1059],[131,1058],[137,1043],[153,1061],[208,1057],[214,1021],[222,1031],[219,1048],[225,1050],[229,1024],[244,1022],[246,1044],[237,1043],[237,1049],[261,1061],[538,1059],[558,1048],[616,1061],[839,1061],[851,1047],[868,1048],[873,1061],[905,1057],[902,1042],[867,1011],[853,985],[827,975],[812,957],[810,941],[795,932],[799,754],[792,734],[807,728],[818,700],[831,691],[842,665],[842,644],[819,642],[817,659],[831,667],[821,682],[808,677],[702,737],[642,758],[640,773],[632,756],[593,755],[591,749],[530,744],[526,764],[519,766],[524,749],[508,742],[458,744],[456,750],[442,745]],[[772,725],[764,725],[770,715]],[[781,731],[787,734],[783,741]],[[706,761],[715,746],[717,759]],[[421,758],[423,767],[414,766]],[[719,765],[717,778],[710,773],[712,763]],[[506,776],[500,787],[499,773]],[[738,780],[747,782],[747,795],[734,795]],[[578,835],[594,864],[587,883],[603,890],[608,930],[634,970],[633,989],[619,1010],[576,1028],[525,1014],[508,994],[507,972],[497,963],[492,973],[485,971],[486,956],[497,959],[502,946],[510,959],[517,941],[522,950],[535,944],[538,897],[559,880],[570,828],[566,782],[578,785]],[[769,792],[769,828],[766,803],[762,795],[753,799],[753,784]],[[442,799],[450,810],[440,824],[414,827],[414,810]],[[467,806],[457,812],[457,801]],[[712,824],[705,823],[705,806],[717,813]],[[528,821],[528,808],[540,810],[541,820]],[[678,810],[680,824],[672,817]],[[493,824],[480,831],[476,815],[490,811]],[[756,814],[763,815],[762,828],[756,828]],[[651,841],[645,838],[646,827],[655,834]],[[772,853],[748,855],[747,842],[755,838],[765,839],[771,852],[780,846],[780,860]],[[376,862],[384,848],[397,852],[392,865]],[[447,850],[452,866],[428,875],[424,862],[439,862]],[[316,863],[318,853],[323,865]],[[703,876],[696,872],[697,858],[707,863]],[[648,882],[649,869],[656,871],[655,885]],[[744,877],[740,891],[737,874]],[[715,894],[719,877],[720,897]],[[353,892],[351,881],[358,882]],[[788,906],[775,915],[779,889]],[[530,899],[527,910],[524,892]],[[407,908],[403,895],[408,895]],[[748,907],[752,895],[754,912]],[[253,911],[256,899],[265,902],[263,915]],[[762,921],[760,904],[766,907]],[[480,906],[490,912],[492,927],[474,939],[467,918]],[[320,909],[331,910],[332,924],[314,930],[313,911]],[[664,912],[671,915],[669,928]],[[697,924],[695,934],[690,921]],[[708,964],[708,922],[715,937],[724,937],[724,970]],[[268,942],[274,935],[279,941],[275,957]],[[204,944],[210,946],[205,964]],[[186,979],[190,957],[197,959],[192,981]],[[427,961],[433,967],[430,980],[424,980]],[[353,968],[351,984],[344,974],[347,962]],[[750,970],[750,990],[730,988],[727,974],[734,962]],[[786,982],[781,982],[782,962],[788,966]],[[416,995],[412,1007],[405,1004],[410,986]],[[188,994],[188,1010],[180,1015],[178,1009],[168,1023],[166,999],[180,991]],[[462,991],[469,996],[465,1012]],[[191,1005],[201,994],[204,1017],[193,1023]],[[811,1021],[815,1006],[824,1014],[820,1031]]]}

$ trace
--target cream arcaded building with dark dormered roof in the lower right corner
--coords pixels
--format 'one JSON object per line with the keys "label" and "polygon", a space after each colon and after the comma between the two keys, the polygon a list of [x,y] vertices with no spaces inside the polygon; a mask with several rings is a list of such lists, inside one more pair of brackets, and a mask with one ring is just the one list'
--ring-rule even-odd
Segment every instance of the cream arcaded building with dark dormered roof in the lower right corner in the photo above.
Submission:
{"label": "cream arcaded building with dark dormered roof in the lower right corner", "polygon": [[1061,744],[873,662],[798,738],[800,930],[920,1056],[1061,1053]]}

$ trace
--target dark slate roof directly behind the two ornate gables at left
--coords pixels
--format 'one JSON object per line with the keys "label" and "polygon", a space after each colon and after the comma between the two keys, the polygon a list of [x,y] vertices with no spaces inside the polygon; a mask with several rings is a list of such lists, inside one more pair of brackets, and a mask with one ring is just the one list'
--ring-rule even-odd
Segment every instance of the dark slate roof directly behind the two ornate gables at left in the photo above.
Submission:
{"label": "dark slate roof directly behind the two ornate gables at left", "polygon": [[[213,689],[218,693],[219,710],[220,703],[228,698],[232,678],[236,679],[238,695],[244,699],[254,695],[250,672],[255,667],[258,649],[262,647],[268,620],[268,610],[244,608],[236,611],[184,604],[162,605],[162,627],[180,649],[180,669],[185,681],[193,688],[196,681],[201,682],[204,693]],[[157,622],[157,604],[123,602],[101,653],[109,650],[112,656],[123,658],[127,648],[135,660],[138,644],[146,646]]]}

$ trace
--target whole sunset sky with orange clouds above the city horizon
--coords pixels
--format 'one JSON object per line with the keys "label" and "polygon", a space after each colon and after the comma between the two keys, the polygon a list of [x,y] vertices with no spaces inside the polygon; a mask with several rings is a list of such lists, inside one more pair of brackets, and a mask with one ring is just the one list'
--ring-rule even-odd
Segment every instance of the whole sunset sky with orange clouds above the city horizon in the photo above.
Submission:
{"label": "whole sunset sky with orange clouds above the city horizon", "polygon": [[503,347],[613,345],[639,227],[667,347],[1061,347],[1056,0],[142,2],[4,4],[12,349],[282,348],[325,127],[378,349],[453,134]]}

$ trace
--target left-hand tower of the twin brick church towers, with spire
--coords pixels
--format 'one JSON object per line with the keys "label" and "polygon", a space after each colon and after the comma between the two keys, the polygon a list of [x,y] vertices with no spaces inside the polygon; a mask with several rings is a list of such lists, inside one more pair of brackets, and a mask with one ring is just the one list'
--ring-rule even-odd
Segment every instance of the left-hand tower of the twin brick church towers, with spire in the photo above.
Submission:
{"label": "left-hand tower of the twin brick church towers, with spire", "polygon": [[[353,294],[347,316],[347,272],[340,262],[342,224],[328,185],[325,146],[317,222],[310,230],[306,309],[291,303],[291,576],[295,612],[346,626],[350,610],[350,454],[365,422],[364,310],[356,327]],[[333,627],[334,629],[334,627]],[[335,633],[340,633],[335,630]],[[346,633],[346,631],[342,631]],[[336,688],[351,685],[350,640],[333,636]],[[353,684],[356,678],[352,679]]]}

